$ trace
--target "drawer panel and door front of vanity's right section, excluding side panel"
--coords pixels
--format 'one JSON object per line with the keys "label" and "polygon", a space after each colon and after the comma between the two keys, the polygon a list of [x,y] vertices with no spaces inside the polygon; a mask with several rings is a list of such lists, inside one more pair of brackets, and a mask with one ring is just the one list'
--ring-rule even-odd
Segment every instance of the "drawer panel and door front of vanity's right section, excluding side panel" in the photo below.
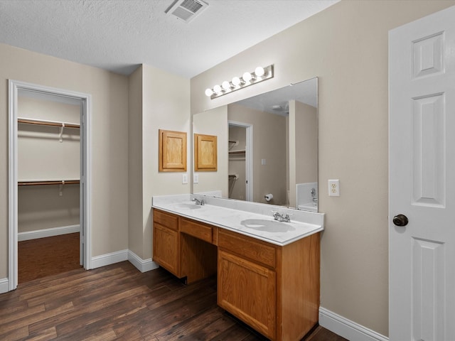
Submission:
{"label": "drawer panel and door front of vanity's right section, excluding side panel", "polygon": [[218,233],[218,305],[275,339],[276,249],[255,239]]}

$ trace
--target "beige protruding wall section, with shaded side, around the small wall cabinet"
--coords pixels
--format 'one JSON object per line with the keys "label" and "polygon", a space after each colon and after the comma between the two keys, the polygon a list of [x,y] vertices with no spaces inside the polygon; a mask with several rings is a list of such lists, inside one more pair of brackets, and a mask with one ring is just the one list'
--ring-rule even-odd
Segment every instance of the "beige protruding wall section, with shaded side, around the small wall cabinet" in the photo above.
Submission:
{"label": "beige protruding wall section, with shaded side, around the small wall cabinet", "polygon": [[[129,250],[151,258],[151,197],[190,193],[182,184],[191,172],[189,80],[149,65],[129,76]],[[187,171],[159,173],[158,131],[187,134]],[[188,176],[188,180],[189,180]]]}

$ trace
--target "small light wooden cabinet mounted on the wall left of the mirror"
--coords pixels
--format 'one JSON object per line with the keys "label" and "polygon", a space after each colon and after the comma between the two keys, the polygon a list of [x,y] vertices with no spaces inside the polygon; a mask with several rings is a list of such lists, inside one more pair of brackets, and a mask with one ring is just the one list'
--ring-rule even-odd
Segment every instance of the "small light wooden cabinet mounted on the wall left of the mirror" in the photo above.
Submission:
{"label": "small light wooden cabinet mounted on the wall left of the mirror", "polygon": [[186,133],[159,129],[159,171],[186,171]]}

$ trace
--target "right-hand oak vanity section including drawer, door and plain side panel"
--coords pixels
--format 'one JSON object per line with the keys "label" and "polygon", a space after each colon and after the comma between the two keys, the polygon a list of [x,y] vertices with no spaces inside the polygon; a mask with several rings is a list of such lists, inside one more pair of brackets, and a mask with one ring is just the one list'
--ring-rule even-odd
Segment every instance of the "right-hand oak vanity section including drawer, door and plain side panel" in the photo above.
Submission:
{"label": "right-hand oak vanity section including drawer, door and plain side panel", "polygon": [[301,340],[319,317],[319,233],[284,247],[218,233],[218,305],[271,340]]}

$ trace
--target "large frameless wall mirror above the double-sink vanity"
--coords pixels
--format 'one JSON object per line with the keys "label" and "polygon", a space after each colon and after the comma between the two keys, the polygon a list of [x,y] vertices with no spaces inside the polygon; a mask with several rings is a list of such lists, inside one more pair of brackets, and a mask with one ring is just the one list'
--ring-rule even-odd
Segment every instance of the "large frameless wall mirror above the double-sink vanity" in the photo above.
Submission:
{"label": "large frameless wall mirror above the double-sink vanity", "polygon": [[193,132],[218,136],[218,170],[193,193],[317,212],[317,77],[194,114]]}

